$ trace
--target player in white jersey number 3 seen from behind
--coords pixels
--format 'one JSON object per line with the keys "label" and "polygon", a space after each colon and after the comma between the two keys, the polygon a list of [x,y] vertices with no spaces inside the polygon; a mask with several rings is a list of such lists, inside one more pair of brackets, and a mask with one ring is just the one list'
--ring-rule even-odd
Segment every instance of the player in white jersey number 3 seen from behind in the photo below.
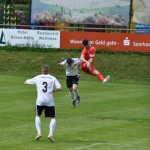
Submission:
{"label": "player in white jersey number 3 seen from behind", "polygon": [[37,75],[32,79],[27,79],[24,84],[35,84],[37,88],[36,99],[36,117],[35,126],[37,129],[36,140],[42,137],[41,134],[41,114],[45,111],[45,117],[50,117],[48,139],[55,142],[53,134],[56,127],[56,114],[53,92],[61,90],[61,84],[52,75],[49,74],[49,66],[44,64],[42,66],[42,74]]}

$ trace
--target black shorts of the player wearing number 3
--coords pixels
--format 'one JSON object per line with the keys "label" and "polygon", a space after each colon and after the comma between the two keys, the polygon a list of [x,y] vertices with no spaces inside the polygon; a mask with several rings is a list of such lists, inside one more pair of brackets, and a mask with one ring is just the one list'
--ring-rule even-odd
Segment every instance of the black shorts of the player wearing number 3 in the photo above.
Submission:
{"label": "black shorts of the player wearing number 3", "polygon": [[41,116],[44,110],[45,117],[54,118],[56,116],[55,106],[36,106],[36,115]]}

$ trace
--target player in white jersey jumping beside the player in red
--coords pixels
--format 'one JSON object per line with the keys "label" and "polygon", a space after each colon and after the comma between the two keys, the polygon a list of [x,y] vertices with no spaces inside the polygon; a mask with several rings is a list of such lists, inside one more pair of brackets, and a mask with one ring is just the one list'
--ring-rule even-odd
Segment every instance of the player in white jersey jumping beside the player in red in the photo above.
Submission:
{"label": "player in white jersey jumping beside the player in red", "polygon": [[78,90],[78,83],[80,79],[78,66],[80,63],[80,58],[67,58],[58,64],[59,66],[64,66],[66,69],[66,86],[69,89],[72,100],[72,108],[75,108],[76,102],[80,102]]}

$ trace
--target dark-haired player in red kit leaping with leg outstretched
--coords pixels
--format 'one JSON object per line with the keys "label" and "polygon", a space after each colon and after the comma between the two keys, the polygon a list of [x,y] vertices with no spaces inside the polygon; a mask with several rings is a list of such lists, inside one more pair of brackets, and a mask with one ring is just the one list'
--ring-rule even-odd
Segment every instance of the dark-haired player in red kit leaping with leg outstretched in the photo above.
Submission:
{"label": "dark-haired player in red kit leaping with leg outstretched", "polygon": [[82,60],[80,65],[81,70],[87,74],[97,76],[97,78],[102,81],[102,83],[107,82],[110,79],[110,75],[104,78],[103,75],[93,66],[96,48],[92,47],[87,39],[84,39],[82,44],[84,48],[80,57]]}

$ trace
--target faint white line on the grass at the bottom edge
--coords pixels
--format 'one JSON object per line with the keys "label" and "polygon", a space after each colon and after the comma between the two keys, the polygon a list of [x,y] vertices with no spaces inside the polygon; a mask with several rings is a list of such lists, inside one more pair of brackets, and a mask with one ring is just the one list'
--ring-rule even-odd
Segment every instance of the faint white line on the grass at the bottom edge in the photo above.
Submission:
{"label": "faint white line on the grass at the bottom edge", "polygon": [[125,145],[125,144],[114,144],[114,143],[94,143],[91,145],[87,145],[87,146],[81,146],[81,147],[77,147],[77,148],[73,148],[73,149],[69,149],[69,150],[80,150],[80,149],[85,149],[85,148],[89,148],[89,147],[93,147],[96,145],[114,145],[114,146],[130,146],[130,145]]}

